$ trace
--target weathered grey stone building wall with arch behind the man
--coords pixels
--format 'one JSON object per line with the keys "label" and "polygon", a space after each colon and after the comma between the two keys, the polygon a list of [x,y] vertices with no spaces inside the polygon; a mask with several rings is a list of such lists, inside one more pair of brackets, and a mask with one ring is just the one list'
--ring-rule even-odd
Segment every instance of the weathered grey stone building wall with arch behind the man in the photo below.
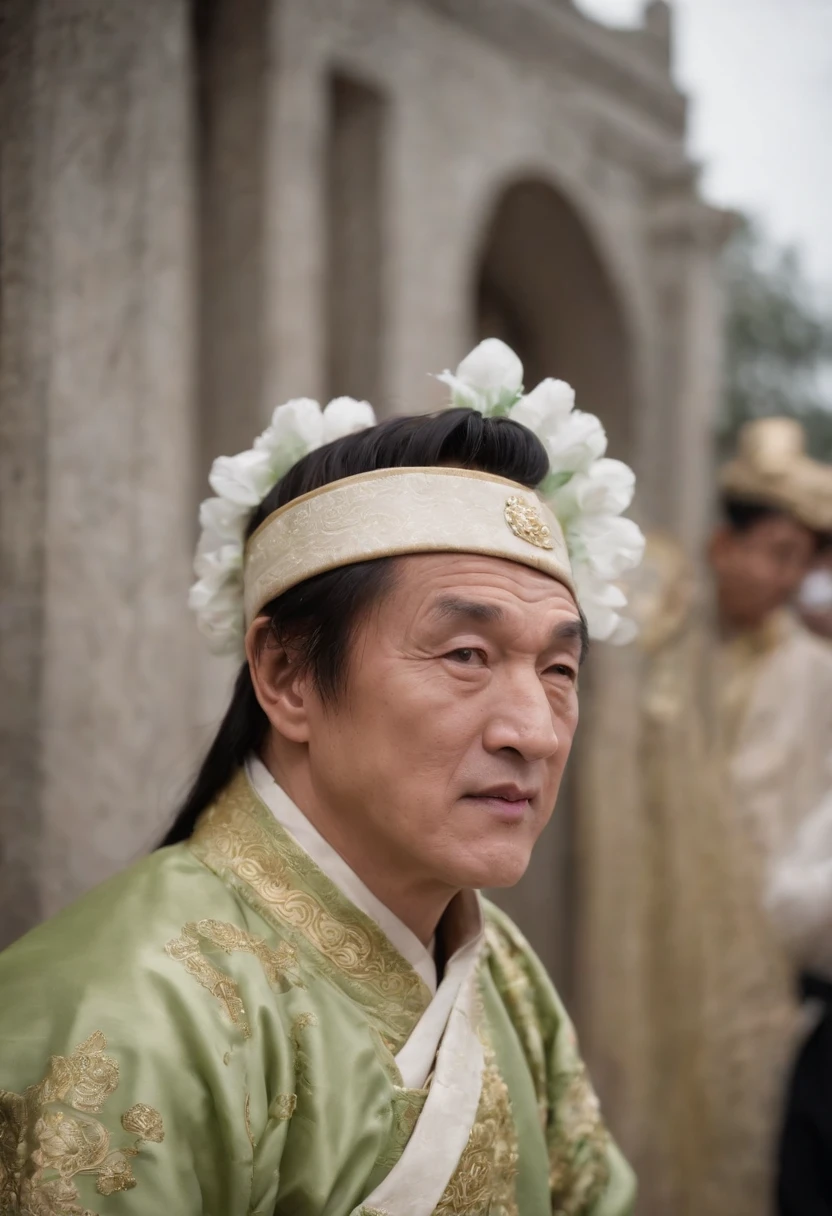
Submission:
{"label": "weathered grey stone building wall with arch behind the man", "polygon": [[[185,607],[196,510],[279,401],[426,410],[429,371],[504,333],[605,420],[642,522],[702,544],[726,223],[663,0],[631,32],[569,0],[0,0],[0,22],[10,940],[153,841],[223,710],[232,672]],[[626,767],[622,670],[596,663],[585,713]],[[620,1049],[590,1054],[639,1159],[637,910],[597,762],[512,906],[579,1012],[619,1002]]]}

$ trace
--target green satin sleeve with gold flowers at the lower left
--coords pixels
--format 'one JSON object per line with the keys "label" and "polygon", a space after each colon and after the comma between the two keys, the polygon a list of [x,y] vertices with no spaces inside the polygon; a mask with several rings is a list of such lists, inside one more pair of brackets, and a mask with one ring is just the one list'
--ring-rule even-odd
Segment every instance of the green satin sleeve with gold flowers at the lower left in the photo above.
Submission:
{"label": "green satin sleeve with gold flowers at the lower left", "polygon": [[231,939],[265,947],[106,893],[0,956],[0,1212],[272,1211],[287,1125],[265,1076],[292,1093],[292,1051],[270,1041],[266,1065],[270,985]]}

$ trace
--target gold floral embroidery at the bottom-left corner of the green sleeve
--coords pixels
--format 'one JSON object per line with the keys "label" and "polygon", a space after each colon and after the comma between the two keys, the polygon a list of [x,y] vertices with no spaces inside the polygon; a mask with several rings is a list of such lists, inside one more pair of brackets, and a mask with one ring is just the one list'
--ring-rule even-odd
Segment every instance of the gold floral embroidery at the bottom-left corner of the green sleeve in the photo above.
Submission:
{"label": "gold floral embroidery at the bottom-left corner of the green sleeve", "polygon": [[71,1055],[52,1055],[43,1081],[24,1093],[0,1090],[0,1211],[26,1216],[95,1216],[79,1205],[77,1175],[92,1175],[99,1194],[136,1186],[130,1158],[144,1141],[164,1139],[162,1116],[137,1103],[122,1116],[135,1136],[111,1148],[97,1114],[118,1087],[118,1064],[100,1030]]}

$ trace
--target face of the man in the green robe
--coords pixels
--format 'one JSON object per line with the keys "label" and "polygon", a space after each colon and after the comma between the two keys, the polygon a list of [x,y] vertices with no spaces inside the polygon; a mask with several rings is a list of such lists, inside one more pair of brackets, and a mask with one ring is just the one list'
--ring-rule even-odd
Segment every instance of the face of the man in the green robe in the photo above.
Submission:
{"label": "face of the man in the green robe", "polygon": [[399,559],[358,630],[345,692],[310,705],[316,796],[392,872],[516,883],[572,747],[581,635],[570,592],[536,570]]}

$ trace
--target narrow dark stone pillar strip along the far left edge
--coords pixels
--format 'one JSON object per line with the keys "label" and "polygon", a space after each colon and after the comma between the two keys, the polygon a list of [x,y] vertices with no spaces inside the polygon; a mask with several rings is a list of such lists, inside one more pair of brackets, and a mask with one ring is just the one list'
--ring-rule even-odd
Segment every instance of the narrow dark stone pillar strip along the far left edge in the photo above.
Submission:
{"label": "narrow dark stone pillar strip along the far left edge", "polygon": [[[0,7],[0,946],[40,916],[49,339],[34,133],[44,124],[30,0]],[[41,85],[41,89],[38,85]]]}

